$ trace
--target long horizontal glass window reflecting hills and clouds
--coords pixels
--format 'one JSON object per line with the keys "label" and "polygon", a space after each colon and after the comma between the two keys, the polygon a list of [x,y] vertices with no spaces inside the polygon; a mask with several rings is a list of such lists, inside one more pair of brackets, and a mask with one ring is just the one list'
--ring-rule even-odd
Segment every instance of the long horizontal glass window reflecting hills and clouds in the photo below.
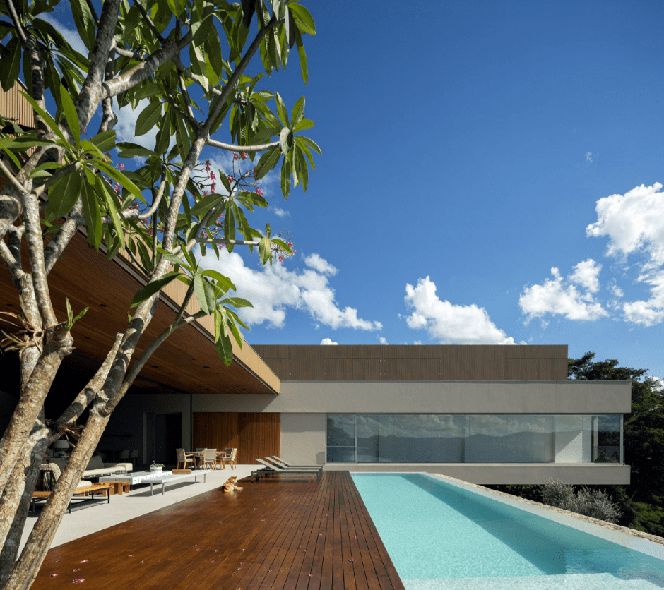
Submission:
{"label": "long horizontal glass window reflecting hills and clouds", "polygon": [[327,414],[328,463],[622,463],[621,414]]}

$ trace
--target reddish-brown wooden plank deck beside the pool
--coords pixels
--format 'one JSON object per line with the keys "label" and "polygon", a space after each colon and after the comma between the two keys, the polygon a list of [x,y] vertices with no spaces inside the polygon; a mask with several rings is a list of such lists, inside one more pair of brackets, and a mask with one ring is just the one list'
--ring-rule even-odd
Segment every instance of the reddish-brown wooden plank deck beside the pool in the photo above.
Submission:
{"label": "reddish-brown wooden plank deck beside the pool", "polygon": [[403,590],[348,471],[241,485],[55,547],[32,589]]}

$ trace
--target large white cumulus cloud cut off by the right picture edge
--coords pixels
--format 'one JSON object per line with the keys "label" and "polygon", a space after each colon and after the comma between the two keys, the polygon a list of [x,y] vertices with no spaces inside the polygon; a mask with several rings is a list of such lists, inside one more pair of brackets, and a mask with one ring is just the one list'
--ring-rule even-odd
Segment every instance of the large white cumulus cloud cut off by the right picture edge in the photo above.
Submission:
{"label": "large white cumulus cloud cut off by the right picture edge", "polygon": [[607,237],[607,256],[626,260],[639,255],[637,282],[651,286],[649,299],[622,304],[628,323],[651,326],[664,321],[664,193],[661,183],[637,186],[624,195],[598,200],[597,222],[586,236]]}

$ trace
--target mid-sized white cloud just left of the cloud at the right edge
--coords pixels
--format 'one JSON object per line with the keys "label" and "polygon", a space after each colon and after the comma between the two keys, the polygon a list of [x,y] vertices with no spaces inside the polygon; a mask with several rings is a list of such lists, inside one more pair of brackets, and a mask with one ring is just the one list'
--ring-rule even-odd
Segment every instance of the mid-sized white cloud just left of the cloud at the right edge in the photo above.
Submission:
{"label": "mid-sized white cloud just left of the cloud at the right edge", "polygon": [[[553,279],[523,289],[518,305],[526,313],[526,324],[533,318],[564,315],[568,320],[597,320],[607,311],[593,299],[599,289],[598,275],[602,265],[588,258],[574,267],[574,272],[563,279],[557,268],[551,269]],[[581,287],[581,289],[579,289]],[[585,290],[585,292],[583,292]]]}

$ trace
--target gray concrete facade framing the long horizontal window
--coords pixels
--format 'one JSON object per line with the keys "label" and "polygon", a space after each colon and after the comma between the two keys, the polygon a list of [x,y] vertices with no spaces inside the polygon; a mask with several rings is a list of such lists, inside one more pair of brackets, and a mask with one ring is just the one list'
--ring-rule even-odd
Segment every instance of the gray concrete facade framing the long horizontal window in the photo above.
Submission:
{"label": "gray concrete facade framing the long horizontal window", "polygon": [[[629,381],[341,381],[281,382],[279,396],[194,395],[196,411],[280,412],[281,454],[297,464],[349,471],[426,471],[473,483],[627,484],[629,466],[579,462],[565,453],[589,447],[586,432],[556,440],[552,463],[328,463],[326,414],[626,414]],[[564,418],[564,416],[563,416]],[[578,440],[576,440],[578,438]],[[583,452],[583,461],[588,460]]]}

